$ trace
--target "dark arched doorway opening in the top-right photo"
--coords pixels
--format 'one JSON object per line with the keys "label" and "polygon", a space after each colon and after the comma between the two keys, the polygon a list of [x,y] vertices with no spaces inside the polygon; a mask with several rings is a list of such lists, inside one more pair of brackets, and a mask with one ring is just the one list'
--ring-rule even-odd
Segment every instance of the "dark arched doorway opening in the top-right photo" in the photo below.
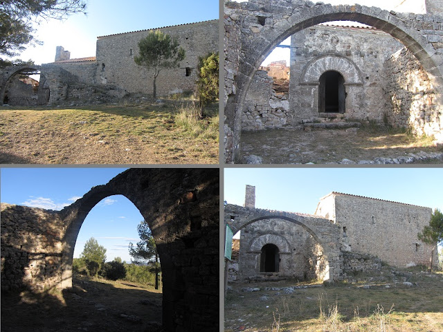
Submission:
{"label": "dark arched doorway opening in the top-right photo", "polygon": [[345,79],[337,71],[326,71],[320,76],[318,111],[320,113],[345,113]]}

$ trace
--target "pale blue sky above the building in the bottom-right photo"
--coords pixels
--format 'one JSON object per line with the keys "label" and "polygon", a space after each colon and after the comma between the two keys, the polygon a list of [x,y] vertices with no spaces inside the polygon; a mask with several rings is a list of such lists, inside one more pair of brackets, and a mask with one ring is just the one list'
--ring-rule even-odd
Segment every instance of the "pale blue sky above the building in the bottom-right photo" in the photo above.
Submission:
{"label": "pale blue sky above the building in the bottom-right photo", "polygon": [[227,168],[224,200],[243,205],[255,185],[257,208],[314,214],[320,197],[343,192],[443,211],[443,168]]}

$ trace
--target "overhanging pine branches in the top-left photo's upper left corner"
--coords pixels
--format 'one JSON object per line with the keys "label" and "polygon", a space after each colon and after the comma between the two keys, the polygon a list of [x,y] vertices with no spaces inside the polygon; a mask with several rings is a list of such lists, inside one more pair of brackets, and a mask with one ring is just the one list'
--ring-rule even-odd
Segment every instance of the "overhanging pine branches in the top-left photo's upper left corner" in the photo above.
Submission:
{"label": "overhanging pine branches in the top-left photo's upper left corner", "polygon": [[41,19],[64,19],[86,11],[86,0],[4,0],[0,1],[0,54],[18,55],[35,39],[33,23]]}

